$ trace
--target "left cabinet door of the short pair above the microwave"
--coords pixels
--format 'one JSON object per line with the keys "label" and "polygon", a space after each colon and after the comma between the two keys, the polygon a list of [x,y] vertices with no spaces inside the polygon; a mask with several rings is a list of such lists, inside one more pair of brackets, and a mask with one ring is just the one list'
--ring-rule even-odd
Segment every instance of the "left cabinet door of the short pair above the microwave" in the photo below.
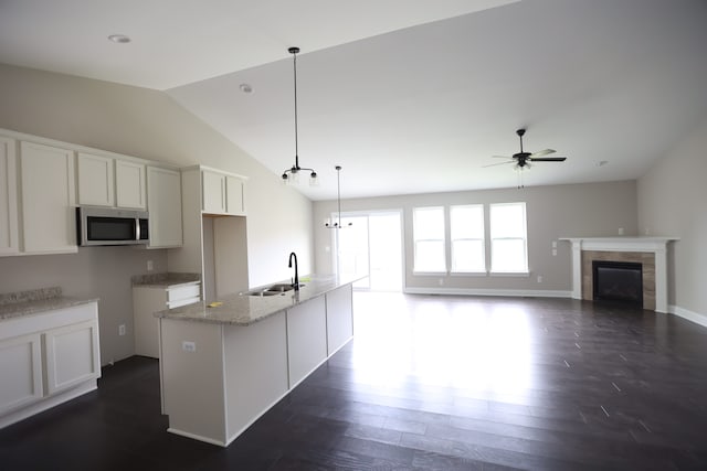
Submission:
{"label": "left cabinet door of the short pair above the microwave", "polygon": [[113,206],[115,190],[113,186],[114,160],[109,157],[92,156],[78,152],[78,204],[92,206]]}

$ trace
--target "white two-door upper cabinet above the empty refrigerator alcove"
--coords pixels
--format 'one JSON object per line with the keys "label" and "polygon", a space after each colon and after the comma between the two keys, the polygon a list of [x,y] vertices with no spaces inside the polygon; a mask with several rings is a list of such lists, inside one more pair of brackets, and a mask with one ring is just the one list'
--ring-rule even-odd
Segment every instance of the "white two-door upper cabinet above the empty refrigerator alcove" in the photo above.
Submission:
{"label": "white two-door upper cabinet above the empty refrigerator alcove", "polygon": [[245,216],[244,180],[215,170],[201,171],[202,211]]}

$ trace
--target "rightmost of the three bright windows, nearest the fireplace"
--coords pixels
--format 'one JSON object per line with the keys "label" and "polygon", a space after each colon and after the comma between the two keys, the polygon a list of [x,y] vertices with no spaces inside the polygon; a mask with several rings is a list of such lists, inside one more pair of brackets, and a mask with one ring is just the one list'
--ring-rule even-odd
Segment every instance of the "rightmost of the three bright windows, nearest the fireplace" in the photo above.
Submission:
{"label": "rightmost of the three bright windows, nearest the fireplace", "polygon": [[526,204],[492,204],[490,269],[494,272],[527,272]]}

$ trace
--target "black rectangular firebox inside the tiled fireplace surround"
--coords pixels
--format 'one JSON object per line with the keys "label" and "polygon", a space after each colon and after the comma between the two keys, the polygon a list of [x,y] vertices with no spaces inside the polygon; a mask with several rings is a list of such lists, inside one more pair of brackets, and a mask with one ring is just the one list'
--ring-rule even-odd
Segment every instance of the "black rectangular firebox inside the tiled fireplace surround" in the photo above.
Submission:
{"label": "black rectangular firebox inside the tiled fireplace surround", "polygon": [[592,287],[595,301],[615,301],[643,308],[643,265],[592,260]]}

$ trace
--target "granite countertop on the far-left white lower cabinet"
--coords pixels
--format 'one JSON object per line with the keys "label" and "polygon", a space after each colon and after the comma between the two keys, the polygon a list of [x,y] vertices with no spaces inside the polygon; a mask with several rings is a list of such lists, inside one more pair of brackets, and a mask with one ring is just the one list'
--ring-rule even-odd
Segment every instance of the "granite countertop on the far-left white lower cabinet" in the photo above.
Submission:
{"label": "granite countertop on the far-left white lower cabinet", "polygon": [[0,320],[39,314],[95,301],[98,299],[62,296],[62,289],[59,287],[10,292],[0,295]]}

